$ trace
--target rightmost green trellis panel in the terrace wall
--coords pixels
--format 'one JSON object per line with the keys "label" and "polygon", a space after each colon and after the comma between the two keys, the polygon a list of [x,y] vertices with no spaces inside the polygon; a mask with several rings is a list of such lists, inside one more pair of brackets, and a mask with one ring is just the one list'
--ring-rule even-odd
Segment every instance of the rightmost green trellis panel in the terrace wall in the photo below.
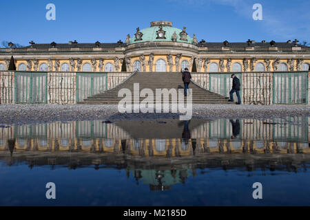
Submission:
{"label": "rightmost green trellis panel in the terrace wall", "polygon": [[274,73],[273,104],[307,104],[308,73]]}

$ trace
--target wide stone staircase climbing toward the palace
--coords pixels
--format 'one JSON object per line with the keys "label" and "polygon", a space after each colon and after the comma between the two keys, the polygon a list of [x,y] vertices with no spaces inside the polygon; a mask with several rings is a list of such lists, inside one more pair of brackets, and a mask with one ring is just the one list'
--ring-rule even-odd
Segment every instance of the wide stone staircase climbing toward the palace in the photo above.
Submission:
{"label": "wide stone staircase climbing toward the palace", "polygon": [[[94,96],[88,97],[83,102],[79,104],[118,104],[123,97],[118,98],[118,91],[120,89],[126,88],[132,91],[132,101],[134,96],[134,83],[139,83],[140,91],[145,88],[152,89],[154,92],[154,100],[156,97],[156,89],[183,89],[182,75],[180,73],[171,72],[138,72],[134,76],[125,80],[124,83],[118,85],[114,89],[104,91],[101,94],[96,94]],[[194,85],[194,83],[189,84],[189,89],[193,89],[192,92],[192,102],[201,104],[229,104],[228,98],[220,96],[219,94],[214,94],[211,91],[206,91]],[[171,96],[169,97],[169,99]],[[140,98],[144,100],[145,98]],[[186,99],[185,99],[186,100]],[[171,103],[171,100],[169,100]],[[132,102],[133,103],[133,102]]]}

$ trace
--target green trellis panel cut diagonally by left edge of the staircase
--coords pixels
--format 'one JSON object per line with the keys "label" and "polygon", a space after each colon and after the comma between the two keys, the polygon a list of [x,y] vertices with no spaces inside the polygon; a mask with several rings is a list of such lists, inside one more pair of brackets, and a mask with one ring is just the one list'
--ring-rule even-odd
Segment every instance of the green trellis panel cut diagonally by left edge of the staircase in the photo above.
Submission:
{"label": "green trellis panel cut diagonally by left edge of the staircase", "polygon": [[107,89],[107,73],[76,74],[76,102],[99,94]]}

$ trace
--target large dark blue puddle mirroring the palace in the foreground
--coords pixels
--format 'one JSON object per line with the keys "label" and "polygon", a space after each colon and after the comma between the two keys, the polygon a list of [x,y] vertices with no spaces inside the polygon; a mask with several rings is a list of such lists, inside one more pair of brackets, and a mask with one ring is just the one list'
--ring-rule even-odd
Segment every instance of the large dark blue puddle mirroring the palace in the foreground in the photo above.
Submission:
{"label": "large dark blue puddle mirroring the palace in the foreground", "polygon": [[307,117],[1,126],[0,164],[0,205],[310,205]]}

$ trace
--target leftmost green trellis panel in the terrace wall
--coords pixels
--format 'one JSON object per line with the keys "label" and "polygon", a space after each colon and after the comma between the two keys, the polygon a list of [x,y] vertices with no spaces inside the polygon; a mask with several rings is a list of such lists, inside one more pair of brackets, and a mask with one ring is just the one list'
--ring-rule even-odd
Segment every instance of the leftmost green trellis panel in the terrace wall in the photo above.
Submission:
{"label": "leftmost green trellis panel in the terrace wall", "polygon": [[32,72],[15,73],[15,103],[47,103],[48,74]]}

